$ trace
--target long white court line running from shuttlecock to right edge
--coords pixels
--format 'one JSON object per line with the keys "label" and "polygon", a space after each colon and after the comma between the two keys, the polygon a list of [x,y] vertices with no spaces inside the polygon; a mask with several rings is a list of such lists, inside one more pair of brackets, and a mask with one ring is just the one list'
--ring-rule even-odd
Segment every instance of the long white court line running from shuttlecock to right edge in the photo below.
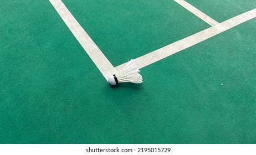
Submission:
{"label": "long white court line running from shuttlecock to right edge", "polygon": [[[222,33],[228,29],[231,29],[231,28],[233,28],[241,23],[244,23],[250,19],[253,19],[255,17],[256,17],[256,9],[245,12],[236,17],[228,19],[222,23],[219,23],[213,27],[210,27],[208,29],[202,30],[201,32],[193,34],[190,37],[178,40],[175,43],[164,46],[163,48],[160,48],[158,50],[152,51],[149,54],[140,56],[139,58],[135,59],[136,63],[139,66],[139,68],[144,68],[147,65],[150,65],[152,63],[155,63],[156,61],[166,58],[167,56],[175,54],[178,51],[189,48],[190,46],[193,46],[195,44],[203,42],[204,40],[209,39],[209,38],[213,37],[214,35]],[[126,65],[126,63],[117,66],[115,69],[120,70],[125,65]],[[112,73],[113,73],[113,71],[114,70],[109,70],[109,72],[112,72]]]}

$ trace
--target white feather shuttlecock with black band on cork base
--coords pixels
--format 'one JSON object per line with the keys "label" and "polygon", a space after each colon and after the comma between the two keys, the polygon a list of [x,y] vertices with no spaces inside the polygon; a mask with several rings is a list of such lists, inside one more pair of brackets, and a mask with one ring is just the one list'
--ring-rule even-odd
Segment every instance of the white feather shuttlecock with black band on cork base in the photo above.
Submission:
{"label": "white feather shuttlecock with black band on cork base", "polygon": [[117,74],[110,76],[107,81],[110,85],[117,85],[121,82],[140,84],[143,81],[142,76],[139,73],[140,70],[135,63],[135,60],[131,59],[125,68],[122,68]]}

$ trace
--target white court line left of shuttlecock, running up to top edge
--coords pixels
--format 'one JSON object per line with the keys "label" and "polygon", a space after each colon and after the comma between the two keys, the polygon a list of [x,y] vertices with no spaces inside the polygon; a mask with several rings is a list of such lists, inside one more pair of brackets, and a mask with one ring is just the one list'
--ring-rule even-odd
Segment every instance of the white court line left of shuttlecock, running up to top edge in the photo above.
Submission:
{"label": "white court line left of shuttlecock, running up to top edge", "polygon": [[105,79],[107,79],[107,77],[109,77],[109,74],[107,74],[106,71],[113,69],[114,66],[112,66],[110,61],[107,60],[106,56],[101,52],[98,46],[85,32],[85,30],[81,27],[78,21],[76,21],[74,16],[69,12],[68,8],[66,8],[63,2],[60,0],[49,1],[59,13],[60,17],[62,17],[63,21],[74,34],[75,38],[78,40],[81,46],[83,46],[84,50],[90,56],[91,60],[93,60],[94,64],[98,67]]}

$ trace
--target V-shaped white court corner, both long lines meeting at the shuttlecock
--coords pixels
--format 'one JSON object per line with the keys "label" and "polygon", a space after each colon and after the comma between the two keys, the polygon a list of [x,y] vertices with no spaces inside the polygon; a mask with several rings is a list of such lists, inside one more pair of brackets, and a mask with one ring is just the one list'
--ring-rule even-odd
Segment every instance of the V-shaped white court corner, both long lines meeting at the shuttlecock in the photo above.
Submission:
{"label": "V-shaped white court corner, both long lines meeting at the shuttlecock", "polygon": [[[105,79],[112,74],[116,73],[116,70],[123,68],[126,63],[119,65],[114,68],[112,64],[107,60],[105,55],[100,51],[98,46],[93,42],[81,25],[76,21],[73,15],[69,12],[68,8],[65,7],[62,1],[60,0],[49,0],[52,3],[53,7],[59,13],[60,17],[64,20],[65,24],[69,27],[71,32],[74,34],[78,42],[83,46],[84,50],[90,56],[91,60],[95,63],[98,69],[101,71]],[[222,33],[228,29],[235,27],[241,23],[246,22],[252,18],[256,17],[256,9],[240,14],[239,16],[228,19],[222,23],[216,24],[213,27],[202,30],[196,34],[191,35],[190,37],[178,40],[175,43],[164,46],[158,50],[152,51],[149,54],[140,56],[136,58],[137,65],[139,68],[144,68],[147,65],[155,63],[161,59],[166,58],[172,54],[177,53],[183,49],[189,48],[195,44],[203,42],[204,40],[213,37],[219,33]]]}

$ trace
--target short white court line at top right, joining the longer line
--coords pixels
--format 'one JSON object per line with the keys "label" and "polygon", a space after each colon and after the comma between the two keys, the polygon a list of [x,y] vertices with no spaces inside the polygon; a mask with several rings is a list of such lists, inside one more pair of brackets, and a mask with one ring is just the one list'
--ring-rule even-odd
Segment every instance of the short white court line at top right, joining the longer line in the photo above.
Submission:
{"label": "short white court line at top right, joining the longer line", "polygon": [[199,11],[197,8],[193,7],[190,3],[183,1],[183,0],[174,0],[182,7],[186,8],[188,11],[196,15],[197,17],[201,18],[204,22],[208,23],[211,26],[219,24],[216,20],[212,19],[211,17],[207,16],[203,12]]}

